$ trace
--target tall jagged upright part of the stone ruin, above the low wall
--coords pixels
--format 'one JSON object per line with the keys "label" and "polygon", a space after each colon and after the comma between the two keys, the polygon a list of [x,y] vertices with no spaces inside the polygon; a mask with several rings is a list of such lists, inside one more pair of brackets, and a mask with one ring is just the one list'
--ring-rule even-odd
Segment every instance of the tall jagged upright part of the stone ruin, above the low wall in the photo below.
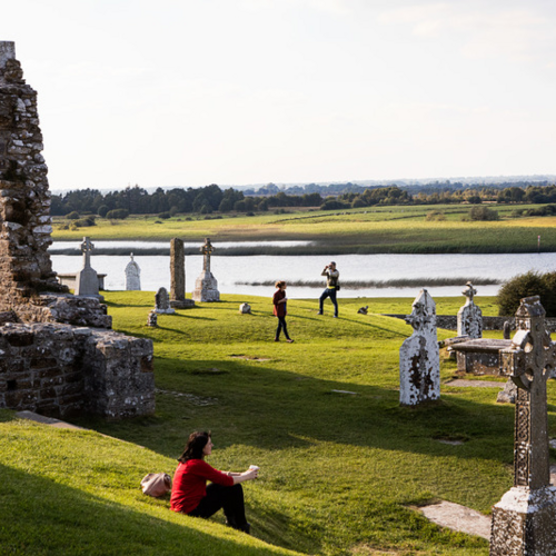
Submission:
{"label": "tall jagged upright part of the stone ruin, above the low wall", "polygon": [[63,290],[47,252],[52,227],[41,151],[37,92],[26,85],[14,43],[0,42],[0,310]]}

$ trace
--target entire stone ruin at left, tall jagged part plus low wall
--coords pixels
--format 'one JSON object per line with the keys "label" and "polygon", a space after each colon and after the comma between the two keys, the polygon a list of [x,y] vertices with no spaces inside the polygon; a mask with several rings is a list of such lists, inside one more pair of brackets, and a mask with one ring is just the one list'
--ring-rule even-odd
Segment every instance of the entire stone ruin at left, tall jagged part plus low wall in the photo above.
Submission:
{"label": "entire stone ruin at left, tall jagged part plus low wall", "polygon": [[13,42],[0,41],[0,408],[152,414],[152,341],[109,330],[106,306],[69,295],[52,271],[41,150],[37,93]]}

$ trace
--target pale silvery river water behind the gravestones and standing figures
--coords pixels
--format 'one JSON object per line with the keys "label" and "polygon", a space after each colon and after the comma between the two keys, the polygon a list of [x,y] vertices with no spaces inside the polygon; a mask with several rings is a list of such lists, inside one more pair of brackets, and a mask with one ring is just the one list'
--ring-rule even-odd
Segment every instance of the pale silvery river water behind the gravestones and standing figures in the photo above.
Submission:
{"label": "pale silvery river water behind the gravestones and standing figures", "polygon": [[[289,247],[299,245],[295,241],[272,242],[214,242],[215,255],[210,259],[211,271],[218,280],[220,294],[238,294],[269,296],[272,286],[251,286],[240,282],[261,282],[266,280],[317,280],[318,287],[290,286],[289,298],[315,297],[325,286],[320,277],[324,266],[330,260],[336,261],[340,271],[340,282],[344,280],[391,280],[400,278],[420,279],[418,287],[411,288],[363,288],[348,289],[342,287],[341,297],[415,297],[420,287],[427,287],[433,297],[460,296],[468,279],[494,278],[507,280],[528,270],[540,272],[556,269],[556,254],[507,254],[507,255],[335,255],[326,256],[280,256],[254,255],[218,257],[218,251],[226,247],[272,245]],[[307,245],[307,242],[305,242]],[[52,267],[59,274],[77,272],[82,266],[79,254],[80,241],[57,241],[56,247],[76,247],[76,255],[51,255]],[[141,246],[153,247],[152,242],[143,241],[95,241],[96,247],[123,247],[133,252],[135,260],[141,268],[141,288],[156,291],[160,287],[170,288],[170,257],[141,256]],[[168,247],[168,241],[157,246]],[[191,244],[199,246],[199,244]],[[99,274],[106,274],[105,286],[108,290],[125,289],[125,268],[129,256],[105,256],[95,252],[91,266]],[[202,270],[202,256],[186,257],[186,290],[190,292],[195,280]],[[459,286],[427,286],[427,278],[461,278]],[[480,296],[496,295],[499,286],[477,286]],[[188,295],[188,297],[190,297]]]}

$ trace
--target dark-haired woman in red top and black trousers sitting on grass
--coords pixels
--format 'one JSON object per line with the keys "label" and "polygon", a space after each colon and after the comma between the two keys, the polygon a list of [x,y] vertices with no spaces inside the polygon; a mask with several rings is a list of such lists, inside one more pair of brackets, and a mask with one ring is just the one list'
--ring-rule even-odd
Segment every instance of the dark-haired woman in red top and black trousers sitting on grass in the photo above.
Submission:
{"label": "dark-haired woman in red top and black trousers sitting on grass", "polygon": [[[210,517],[220,508],[227,525],[249,533],[240,483],[257,478],[258,468],[244,473],[219,471],[205,461],[212,453],[210,433],[191,433],[173,475],[170,509],[193,517]],[[207,480],[210,485],[207,486]]]}

